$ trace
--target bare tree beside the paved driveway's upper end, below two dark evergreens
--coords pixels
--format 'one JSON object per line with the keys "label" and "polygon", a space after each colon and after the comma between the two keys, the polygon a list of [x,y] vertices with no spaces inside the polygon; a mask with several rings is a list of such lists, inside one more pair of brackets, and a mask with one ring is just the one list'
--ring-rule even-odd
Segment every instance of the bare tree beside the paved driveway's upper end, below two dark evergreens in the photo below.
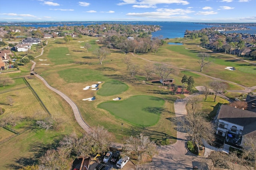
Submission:
{"label": "bare tree beside the paved driveway's upper end, below two dark evergreens", "polygon": [[190,98],[188,98],[187,100],[187,110],[188,111],[192,111],[192,113],[196,113],[196,112],[200,112],[201,108],[202,108],[202,98],[200,98],[200,96],[192,96]]}

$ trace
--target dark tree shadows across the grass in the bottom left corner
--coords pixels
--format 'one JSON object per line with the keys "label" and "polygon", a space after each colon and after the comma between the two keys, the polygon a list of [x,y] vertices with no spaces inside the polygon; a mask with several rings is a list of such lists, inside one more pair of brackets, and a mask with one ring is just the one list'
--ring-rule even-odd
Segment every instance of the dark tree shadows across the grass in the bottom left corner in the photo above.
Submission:
{"label": "dark tree shadows across the grass in the bottom left corner", "polygon": [[59,136],[52,143],[44,144],[41,142],[33,143],[30,146],[29,152],[33,152],[33,156],[24,156],[20,158],[15,158],[13,161],[15,163],[6,165],[6,168],[18,170],[23,166],[38,164],[39,158],[43,156],[47,150],[56,149],[61,139],[63,139],[64,135]]}

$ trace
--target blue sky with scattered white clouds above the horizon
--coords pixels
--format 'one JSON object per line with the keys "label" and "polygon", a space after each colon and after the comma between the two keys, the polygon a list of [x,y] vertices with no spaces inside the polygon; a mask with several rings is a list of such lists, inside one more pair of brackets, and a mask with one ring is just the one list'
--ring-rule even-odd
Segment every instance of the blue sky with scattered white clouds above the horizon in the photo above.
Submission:
{"label": "blue sky with scattered white clouds above the horizon", "polygon": [[256,22],[256,0],[0,0],[0,21]]}

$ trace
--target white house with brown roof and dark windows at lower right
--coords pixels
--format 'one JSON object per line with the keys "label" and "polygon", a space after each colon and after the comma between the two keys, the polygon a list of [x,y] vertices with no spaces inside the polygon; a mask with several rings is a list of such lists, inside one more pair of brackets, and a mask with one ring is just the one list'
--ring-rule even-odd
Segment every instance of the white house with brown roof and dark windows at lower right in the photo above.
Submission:
{"label": "white house with brown roof and dark windows at lower right", "polygon": [[228,153],[229,148],[240,149],[245,137],[256,135],[256,113],[221,105],[214,117],[216,134],[223,137],[223,152]]}

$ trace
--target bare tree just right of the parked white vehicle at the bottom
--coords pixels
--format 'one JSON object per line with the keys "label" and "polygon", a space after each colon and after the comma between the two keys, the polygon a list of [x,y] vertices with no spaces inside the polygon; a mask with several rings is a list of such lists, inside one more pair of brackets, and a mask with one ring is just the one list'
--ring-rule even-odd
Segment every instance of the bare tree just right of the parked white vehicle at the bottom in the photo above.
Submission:
{"label": "bare tree just right of the parked white vehicle at the bottom", "polygon": [[136,155],[138,162],[142,162],[146,156],[154,156],[157,153],[156,144],[142,133],[136,137],[129,137],[124,144],[124,151],[128,155]]}

